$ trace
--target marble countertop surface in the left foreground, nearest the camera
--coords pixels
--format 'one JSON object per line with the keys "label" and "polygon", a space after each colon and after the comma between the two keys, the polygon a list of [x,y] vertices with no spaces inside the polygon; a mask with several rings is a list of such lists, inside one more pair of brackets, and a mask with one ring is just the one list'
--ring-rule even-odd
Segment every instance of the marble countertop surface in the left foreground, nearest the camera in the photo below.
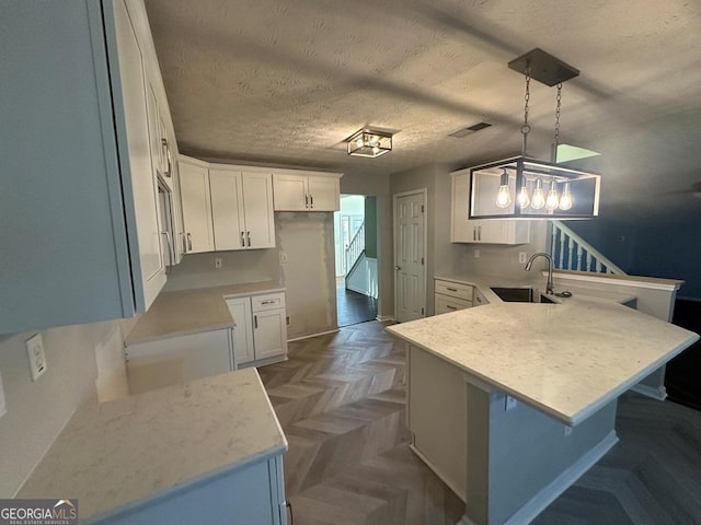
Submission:
{"label": "marble countertop surface in the left foreground, nearest the camera", "polygon": [[81,518],[283,454],[255,369],[79,408],[18,498],[70,494]]}

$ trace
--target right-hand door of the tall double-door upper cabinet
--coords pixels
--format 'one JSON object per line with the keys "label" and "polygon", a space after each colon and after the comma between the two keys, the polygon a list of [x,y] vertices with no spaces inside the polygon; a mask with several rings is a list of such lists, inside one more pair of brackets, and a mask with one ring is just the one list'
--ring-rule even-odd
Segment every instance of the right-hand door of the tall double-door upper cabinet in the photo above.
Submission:
{"label": "right-hand door of the tall double-door upper cabinet", "polygon": [[243,173],[245,241],[248,248],[275,247],[273,217],[273,176],[266,173]]}

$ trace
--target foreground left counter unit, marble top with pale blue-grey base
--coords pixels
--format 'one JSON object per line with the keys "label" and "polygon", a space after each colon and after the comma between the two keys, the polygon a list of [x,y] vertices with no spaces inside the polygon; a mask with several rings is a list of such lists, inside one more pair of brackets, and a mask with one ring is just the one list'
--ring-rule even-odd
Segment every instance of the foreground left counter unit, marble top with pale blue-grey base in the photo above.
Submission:
{"label": "foreground left counter unit, marble top with pale blue-grey base", "polygon": [[79,408],[16,494],[81,523],[285,525],[287,440],[255,369]]}

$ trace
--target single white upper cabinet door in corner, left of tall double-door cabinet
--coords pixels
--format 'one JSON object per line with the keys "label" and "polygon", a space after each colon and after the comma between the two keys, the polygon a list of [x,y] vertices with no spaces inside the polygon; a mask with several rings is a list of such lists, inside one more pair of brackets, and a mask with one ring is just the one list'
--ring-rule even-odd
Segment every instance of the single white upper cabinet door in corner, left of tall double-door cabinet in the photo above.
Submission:
{"label": "single white upper cabinet door in corner, left of tall double-door cabinet", "polygon": [[215,238],[208,170],[181,161],[180,192],[183,207],[185,253],[214,252]]}

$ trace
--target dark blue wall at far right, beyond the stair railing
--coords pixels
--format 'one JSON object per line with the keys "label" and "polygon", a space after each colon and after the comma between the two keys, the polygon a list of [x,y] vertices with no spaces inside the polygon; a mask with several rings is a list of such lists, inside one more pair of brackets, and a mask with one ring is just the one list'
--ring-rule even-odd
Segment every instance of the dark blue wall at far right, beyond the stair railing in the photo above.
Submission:
{"label": "dark blue wall at far right, beyond the stair railing", "polygon": [[663,203],[602,206],[598,218],[566,224],[627,273],[683,279],[679,296],[701,300],[701,199],[682,195]]}

